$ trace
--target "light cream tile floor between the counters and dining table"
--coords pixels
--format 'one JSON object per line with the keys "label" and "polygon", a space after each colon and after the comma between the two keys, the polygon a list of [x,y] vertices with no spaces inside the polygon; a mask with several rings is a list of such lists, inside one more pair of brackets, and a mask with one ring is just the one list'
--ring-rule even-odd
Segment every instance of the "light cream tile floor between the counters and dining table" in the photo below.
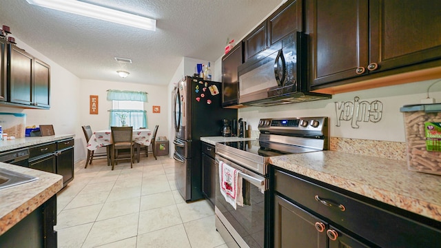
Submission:
{"label": "light cream tile floor between the counters and dining table", "polygon": [[59,247],[227,247],[207,201],[185,203],[177,192],[168,156],[114,171],[105,160],[84,163],[57,194]]}

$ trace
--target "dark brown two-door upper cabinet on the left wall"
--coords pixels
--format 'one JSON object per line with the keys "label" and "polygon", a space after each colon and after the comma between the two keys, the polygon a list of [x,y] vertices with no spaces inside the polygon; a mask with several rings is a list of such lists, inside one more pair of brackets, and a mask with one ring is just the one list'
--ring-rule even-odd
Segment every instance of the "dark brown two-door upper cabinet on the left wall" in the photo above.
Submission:
{"label": "dark brown two-door upper cabinet on the left wall", "polygon": [[50,66],[16,45],[8,44],[8,103],[50,107]]}

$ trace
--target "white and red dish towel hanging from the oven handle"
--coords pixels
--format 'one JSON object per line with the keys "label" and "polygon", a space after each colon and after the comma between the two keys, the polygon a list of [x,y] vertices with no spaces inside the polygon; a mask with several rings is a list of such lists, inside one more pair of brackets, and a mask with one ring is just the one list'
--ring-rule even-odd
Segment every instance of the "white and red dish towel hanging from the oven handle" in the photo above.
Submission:
{"label": "white and red dish towel hanging from the oven handle", "polygon": [[219,162],[220,194],[234,209],[237,205],[243,206],[242,180],[239,179],[239,171],[233,167]]}

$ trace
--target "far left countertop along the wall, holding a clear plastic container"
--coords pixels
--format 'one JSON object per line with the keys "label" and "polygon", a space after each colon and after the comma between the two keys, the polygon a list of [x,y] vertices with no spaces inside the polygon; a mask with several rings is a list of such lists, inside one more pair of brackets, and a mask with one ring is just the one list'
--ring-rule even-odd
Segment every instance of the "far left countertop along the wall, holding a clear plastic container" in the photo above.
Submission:
{"label": "far left countertop along the wall, holding a clear plastic container", "polygon": [[65,138],[72,138],[74,134],[64,134],[64,135],[52,135],[52,136],[41,136],[41,137],[25,137],[16,138],[9,141],[0,141],[0,152],[5,152],[11,149],[18,149],[21,147],[28,147],[32,145],[38,145],[42,143],[48,143],[52,141],[59,141]]}

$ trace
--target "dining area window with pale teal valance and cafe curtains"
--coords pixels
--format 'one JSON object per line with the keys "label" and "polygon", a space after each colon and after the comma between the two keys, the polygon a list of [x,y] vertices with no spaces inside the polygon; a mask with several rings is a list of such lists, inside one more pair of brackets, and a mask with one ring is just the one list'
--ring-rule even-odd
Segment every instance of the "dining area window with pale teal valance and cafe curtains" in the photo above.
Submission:
{"label": "dining area window with pale teal valance and cafe curtains", "polygon": [[107,101],[112,101],[109,127],[147,128],[147,114],[144,110],[147,92],[107,90]]}

